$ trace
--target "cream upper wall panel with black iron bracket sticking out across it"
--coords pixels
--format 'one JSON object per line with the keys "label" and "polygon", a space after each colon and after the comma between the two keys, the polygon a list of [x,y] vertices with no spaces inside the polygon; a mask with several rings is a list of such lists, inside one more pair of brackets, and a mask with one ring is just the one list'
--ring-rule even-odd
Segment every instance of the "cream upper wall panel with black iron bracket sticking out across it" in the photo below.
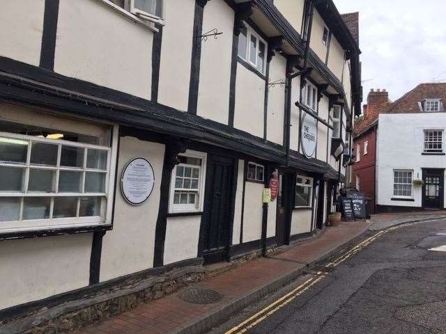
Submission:
{"label": "cream upper wall panel with black iron bracket sticking out across it", "polygon": [[[209,1],[203,12],[203,33],[224,31],[201,43],[197,115],[228,124],[234,11],[223,0]],[[217,65],[218,64],[218,65]]]}

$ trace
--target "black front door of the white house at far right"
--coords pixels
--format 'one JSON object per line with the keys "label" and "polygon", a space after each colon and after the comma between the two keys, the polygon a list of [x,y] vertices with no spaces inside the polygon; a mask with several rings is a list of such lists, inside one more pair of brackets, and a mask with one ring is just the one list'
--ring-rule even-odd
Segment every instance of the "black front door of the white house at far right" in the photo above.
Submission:
{"label": "black front door of the white house at far right", "polygon": [[443,207],[443,170],[423,170],[423,198],[422,206],[430,209],[441,209]]}

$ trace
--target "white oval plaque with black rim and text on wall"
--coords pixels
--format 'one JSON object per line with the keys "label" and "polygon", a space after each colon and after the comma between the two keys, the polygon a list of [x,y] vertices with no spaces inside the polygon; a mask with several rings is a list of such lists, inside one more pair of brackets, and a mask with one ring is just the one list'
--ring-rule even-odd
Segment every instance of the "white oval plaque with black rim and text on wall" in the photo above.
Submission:
{"label": "white oval plaque with black rim and text on wall", "polygon": [[150,162],[144,158],[130,160],[121,177],[121,192],[131,205],[140,205],[151,196],[155,173]]}

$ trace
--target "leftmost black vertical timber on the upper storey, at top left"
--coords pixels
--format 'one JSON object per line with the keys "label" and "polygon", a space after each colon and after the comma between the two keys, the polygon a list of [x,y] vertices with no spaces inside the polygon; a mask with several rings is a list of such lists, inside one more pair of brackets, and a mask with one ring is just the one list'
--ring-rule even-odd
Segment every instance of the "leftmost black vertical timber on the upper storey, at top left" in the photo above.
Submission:
{"label": "leftmost black vertical timber on the upper storey, at top left", "polygon": [[54,70],[54,54],[56,53],[58,16],[59,0],[45,0],[42,45],[40,47],[40,67],[51,71]]}

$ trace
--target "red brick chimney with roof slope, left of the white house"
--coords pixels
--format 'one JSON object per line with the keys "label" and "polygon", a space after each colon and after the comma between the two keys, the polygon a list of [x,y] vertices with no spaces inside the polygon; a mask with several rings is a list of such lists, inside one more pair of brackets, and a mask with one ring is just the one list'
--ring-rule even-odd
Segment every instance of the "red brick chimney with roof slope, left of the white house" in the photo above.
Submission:
{"label": "red brick chimney with roof slope, left of the white house", "polygon": [[385,89],[374,90],[372,88],[367,96],[367,104],[362,107],[364,119],[362,122],[355,124],[355,133],[357,134],[371,125],[378,118],[379,113],[384,111],[391,103],[389,93]]}

